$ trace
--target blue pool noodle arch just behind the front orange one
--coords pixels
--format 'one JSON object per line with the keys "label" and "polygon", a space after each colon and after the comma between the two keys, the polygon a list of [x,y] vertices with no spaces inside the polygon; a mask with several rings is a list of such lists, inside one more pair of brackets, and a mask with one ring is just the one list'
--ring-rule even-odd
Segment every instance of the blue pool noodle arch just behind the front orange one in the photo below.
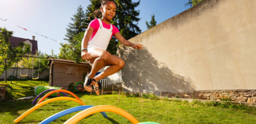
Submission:
{"label": "blue pool noodle arch just behind the front orange one", "polygon": [[[51,117],[48,117],[47,119],[41,121],[39,124],[48,124],[48,123],[51,123],[52,121],[56,120],[59,117],[62,117],[62,116],[65,116],[67,114],[70,114],[70,113],[73,113],[73,112],[77,112],[77,111],[80,111],[80,110],[88,109],[88,108],[91,108],[91,107],[93,107],[93,105],[78,106],[78,107],[66,109],[66,110],[63,110],[61,112],[58,112],[58,113],[54,114]],[[101,112],[101,114],[105,118],[108,117],[105,112]]]}

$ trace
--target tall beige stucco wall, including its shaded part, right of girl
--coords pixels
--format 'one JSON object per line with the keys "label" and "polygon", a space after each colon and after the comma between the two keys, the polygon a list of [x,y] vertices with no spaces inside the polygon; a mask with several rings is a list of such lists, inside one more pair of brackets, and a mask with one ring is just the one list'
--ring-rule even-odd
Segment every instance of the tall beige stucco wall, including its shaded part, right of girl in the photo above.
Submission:
{"label": "tall beige stucco wall, including its shaded part, right of girl", "polygon": [[129,41],[145,49],[119,51],[126,90],[256,89],[256,0],[206,0]]}

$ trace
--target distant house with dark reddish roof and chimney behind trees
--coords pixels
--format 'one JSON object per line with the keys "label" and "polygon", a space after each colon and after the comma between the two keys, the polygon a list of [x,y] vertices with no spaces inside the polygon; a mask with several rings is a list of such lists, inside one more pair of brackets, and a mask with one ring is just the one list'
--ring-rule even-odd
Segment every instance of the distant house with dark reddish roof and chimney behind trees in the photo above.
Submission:
{"label": "distant house with dark reddish roof and chimney behind trees", "polygon": [[38,51],[38,45],[37,45],[37,41],[35,40],[35,36],[32,36],[32,40],[28,38],[25,39],[25,38],[13,36],[9,38],[9,42],[12,45],[12,47],[19,46],[20,43],[29,44],[31,52],[27,54],[30,54],[30,55],[35,55],[36,51]]}

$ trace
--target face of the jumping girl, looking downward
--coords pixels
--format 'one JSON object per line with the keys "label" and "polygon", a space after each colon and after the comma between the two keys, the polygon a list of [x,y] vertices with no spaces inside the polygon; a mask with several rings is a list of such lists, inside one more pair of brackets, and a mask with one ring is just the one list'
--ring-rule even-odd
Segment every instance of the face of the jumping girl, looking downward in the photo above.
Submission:
{"label": "face of the jumping girl, looking downward", "polygon": [[109,22],[116,15],[116,4],[113,1],[107,2],[103,7],[101,7],[102,15]]}

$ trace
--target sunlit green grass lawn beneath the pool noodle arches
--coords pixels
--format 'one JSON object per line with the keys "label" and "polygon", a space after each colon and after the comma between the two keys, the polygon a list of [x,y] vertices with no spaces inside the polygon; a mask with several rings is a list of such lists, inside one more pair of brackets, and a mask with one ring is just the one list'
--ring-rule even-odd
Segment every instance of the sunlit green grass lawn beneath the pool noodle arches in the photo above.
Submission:
{"label": "sunlit green grass lawn beneath the pool noodle arches", "polygon": [[[36,85],[43,84],[47,83],[37,82]],[[22,89],[20,88],[20,90]],[[24,94],[24,92],[21,94]],[[163,99],[161,102],[160,99],[154,98],[153,95],[143,95],[148,99],[143,99],[142,108],[142,102],[139,102],[140,98],[132,95],[120,95],[118,103],[117,94],[103,95],[102,100],[101,95],[76,95],[87,105],[112,105],[124,109],[140,122],[153,121],[161,124],[256,124],[256,109],[244,105],[218,102],[181,102],[168,99]],[[28,96],[31,95],[29,94]],[[0,124],[14,124],[13,121],[17,117],[34,106],[31,104],[32,101],[0,101]],[[57,112],[79,105],[77,102],[66,100],[51,102],[23,118],[20,124],[38,124]],[[60,117],[50,124],[63,124],[76,113],[78,112]],[[78,124],[131,124],[120,115],[106,113],[109,118],[104,118],[100,113],[96,113],[81,120]]]}

